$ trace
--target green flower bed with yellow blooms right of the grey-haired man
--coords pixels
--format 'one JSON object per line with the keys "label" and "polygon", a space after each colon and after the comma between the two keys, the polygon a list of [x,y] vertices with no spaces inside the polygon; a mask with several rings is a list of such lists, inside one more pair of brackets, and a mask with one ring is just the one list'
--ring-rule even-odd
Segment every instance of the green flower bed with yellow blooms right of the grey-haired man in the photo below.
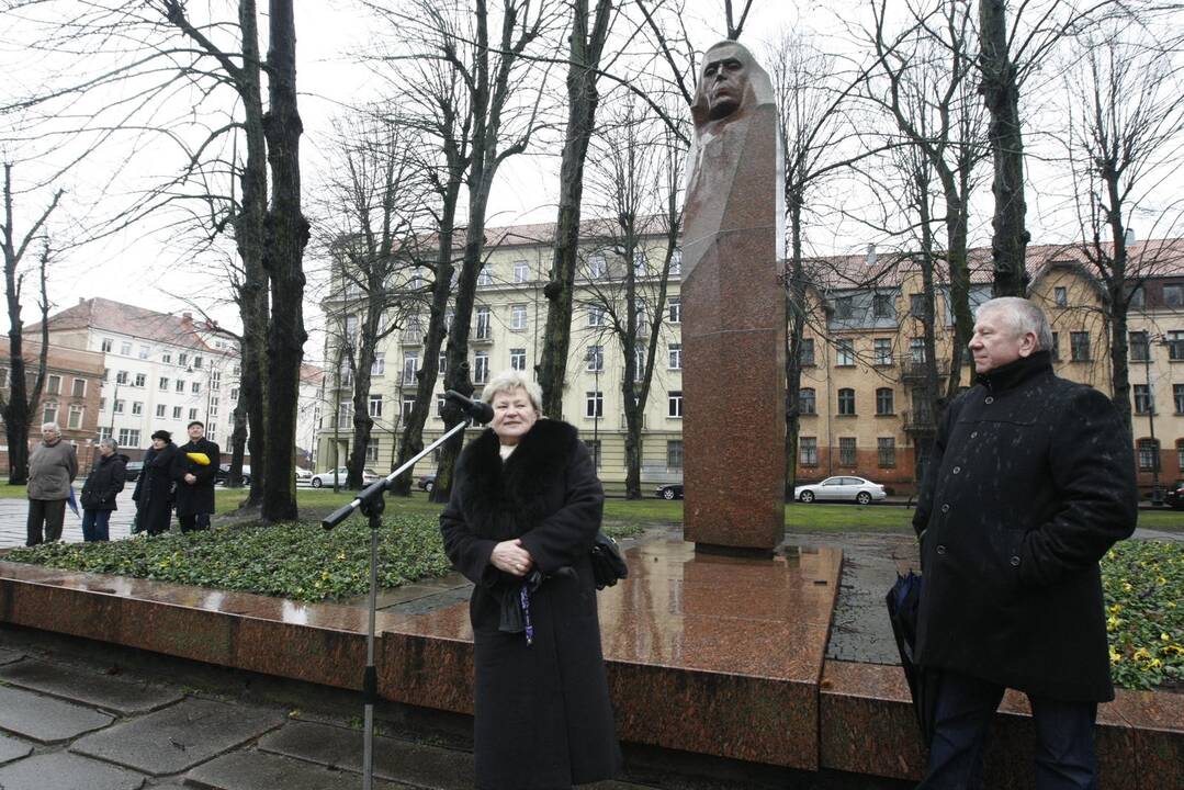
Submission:
{"label": "green flower bed with yellow blooms right of the grey-haired man", "polygon": [[1114,682],[1184,683],[1184,544],[1118,544],[1102,559],[1102,590]]}

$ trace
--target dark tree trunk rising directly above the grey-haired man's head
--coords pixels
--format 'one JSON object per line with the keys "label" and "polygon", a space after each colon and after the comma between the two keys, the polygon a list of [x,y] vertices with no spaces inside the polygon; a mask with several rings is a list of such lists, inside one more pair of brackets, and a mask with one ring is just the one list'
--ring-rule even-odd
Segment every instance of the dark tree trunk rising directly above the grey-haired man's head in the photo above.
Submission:
{"label": "dark tree trunk rising directly above the grey-haired man's head", "polygon": [[979,19],[979,92],[991,114],[987,136],[995,159],[995,217],[991,257],[996,296],[1025,296],[1029,233],[1024,227],[1024,144],[1019,124],[1019,84],[1008,51],[1006,0],[982,0]]}

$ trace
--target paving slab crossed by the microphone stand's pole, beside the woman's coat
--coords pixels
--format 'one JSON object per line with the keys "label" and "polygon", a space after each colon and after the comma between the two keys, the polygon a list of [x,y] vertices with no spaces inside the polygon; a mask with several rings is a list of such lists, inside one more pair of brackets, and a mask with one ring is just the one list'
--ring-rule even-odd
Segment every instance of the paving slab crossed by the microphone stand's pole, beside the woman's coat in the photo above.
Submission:
{"label": "paving slab crossed by the microphone stand's pole, beside the woman's coat", "polygon": [[[362,732],[309,721],[289,721],[259,740],[259,749],[360,773]],[[438,790],[476,784],[472,754],[423,746],[398,738],[374,738],[374,776]]]}

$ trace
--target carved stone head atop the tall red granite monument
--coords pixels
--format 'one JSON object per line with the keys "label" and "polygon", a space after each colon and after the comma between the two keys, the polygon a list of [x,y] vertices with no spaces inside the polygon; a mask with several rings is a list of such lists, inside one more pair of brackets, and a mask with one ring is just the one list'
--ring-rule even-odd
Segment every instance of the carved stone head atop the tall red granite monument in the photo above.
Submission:
{"label": "carved stone head atop the tall red granite monument", "polygon": [[742,45],[720,41],[703,53],[695,103],[690,107],[696,129],[713,121],[744,115],[755,105],[772,101],[773,84],[768,75]]}

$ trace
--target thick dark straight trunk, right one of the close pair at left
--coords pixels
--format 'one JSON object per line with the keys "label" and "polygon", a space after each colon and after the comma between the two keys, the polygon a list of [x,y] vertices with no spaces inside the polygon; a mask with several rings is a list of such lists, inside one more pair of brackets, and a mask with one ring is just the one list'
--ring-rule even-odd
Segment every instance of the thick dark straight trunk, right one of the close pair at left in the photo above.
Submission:
{"label": "thick dark straight trunk, right one of the close pair at left", "polygon": [[271,278],[274,310],[268,327],[268,443],[263,471],[263,519],[297,516],[292,452],[296,447],[296,406],[300,368],[304,357],[302,266],[309,226],[301,212],[300,137],[303,133],[296,103],[296,27],[292,0],[270,0],[268,52],[269,109],[264,117],[268,161],[271,165],[271,208],[264,265]]}

